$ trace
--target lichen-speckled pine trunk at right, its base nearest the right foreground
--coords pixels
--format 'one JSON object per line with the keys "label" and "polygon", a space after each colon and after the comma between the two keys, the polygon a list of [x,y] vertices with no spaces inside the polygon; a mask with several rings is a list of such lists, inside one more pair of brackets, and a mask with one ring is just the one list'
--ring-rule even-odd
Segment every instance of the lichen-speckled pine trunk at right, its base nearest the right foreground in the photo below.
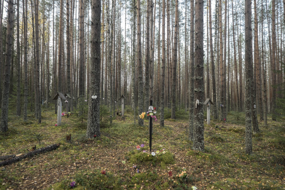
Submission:
{"label": "lichen-speckled pine trunk at right, its base nearest the right foreground", "polygon": [[252,99],[251,90],[253,85],[252,68],[252,29],[251,29],[251,0],[245,1],[245,112],[246,112],[246,130],[245,130],[245,150],[246,154],[252,154],[251,140],[251,109]]}

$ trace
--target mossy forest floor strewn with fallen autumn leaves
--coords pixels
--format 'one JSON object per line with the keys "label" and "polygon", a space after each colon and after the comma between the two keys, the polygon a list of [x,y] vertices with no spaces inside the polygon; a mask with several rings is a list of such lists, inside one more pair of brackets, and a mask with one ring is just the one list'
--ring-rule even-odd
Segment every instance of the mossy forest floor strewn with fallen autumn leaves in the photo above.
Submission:
{"label": "mossy forest floor strewn with fallen autumn leaves", "polygon": [[[156,162],[162,151],[149,157],[148,121],[145,126],[134,125],[130,109],[125,118],[117,116],[111,125],[101,128],[101,137],[90,140],[85,139],[86,120],[81,123],[75,115],[63,116],[62,125],[55,126],[54,110],[42,110],[42,124],[37,124],[33,113],[28,122],[9,113],[8,132],[0,133],[0,156],[27,153],[34,145],[61,143],[60,147],[0,167],[0,190],[70,189],[72,180],[76,181],[74,189],[80,190],[285,189],[285,124],[272,121],[270,115],[268,127],[259,122],[261,133],[252,136],[250,156],[244,151],[244,113],[228,113],[227,122],[211,120],[207,125],[205,121],[204,152],[191,150],[187,114],[166,119],[165,127],[156,121],[152,149],[164,148],[173,155],[174,162],[166,164]],[[66,134],[71,134],[72,143],[65,143]],[[141,144],[146,153],[136,150]],[[177,176],[182,171],[186,174]]]}

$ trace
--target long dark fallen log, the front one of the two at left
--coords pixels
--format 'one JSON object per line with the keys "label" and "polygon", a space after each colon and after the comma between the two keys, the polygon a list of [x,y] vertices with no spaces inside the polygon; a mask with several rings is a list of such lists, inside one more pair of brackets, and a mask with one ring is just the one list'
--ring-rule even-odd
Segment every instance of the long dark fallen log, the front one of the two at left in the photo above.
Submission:
{"label": "long dark fallen log, the front one of the two at left", "polygon": [[[26,154],[22,154],[22,155],[19,155],[19,156],[15,156],[15,157],[12,158],[12,159],[7,159],[7,160],[4,160],[4,161],[0,162],[0,167],[1,167],[1,166],[8,165],[8,164],[15,163],[15,162],[18,162],[18,161],[23,160],[23,159],[25,159],[25,158],[34,156],[34,155],[36,155],[36,154],[38,154],[38,153],[43,153],[43,152],[55,150],[55,149],[58,148],[59,146],[60,146],[60,144],[49,145],[49,146],[46,146],[46,147],[43,147],[43,148],[39,148],[39,149],[34,150],[34,151],[31,151],[31,152],[28,152],[28,153],[26,153]],[[8,156],[10,156],[10,155],[8,155]]]}

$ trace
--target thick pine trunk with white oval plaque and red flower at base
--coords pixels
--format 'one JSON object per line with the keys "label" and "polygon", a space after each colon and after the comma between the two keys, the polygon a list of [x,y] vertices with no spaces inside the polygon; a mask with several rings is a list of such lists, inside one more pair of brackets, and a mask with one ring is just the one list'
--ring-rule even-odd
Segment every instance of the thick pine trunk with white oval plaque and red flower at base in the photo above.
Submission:
{"label": "thick pine trunk with white oval plaque and red flower at base", "polygon": [[[101,0],[91,1],[90,86],[86,138],[100,136]],[[94,97],[97,96],[97,97]],[[96,137],[95,136],[95,137]]]}

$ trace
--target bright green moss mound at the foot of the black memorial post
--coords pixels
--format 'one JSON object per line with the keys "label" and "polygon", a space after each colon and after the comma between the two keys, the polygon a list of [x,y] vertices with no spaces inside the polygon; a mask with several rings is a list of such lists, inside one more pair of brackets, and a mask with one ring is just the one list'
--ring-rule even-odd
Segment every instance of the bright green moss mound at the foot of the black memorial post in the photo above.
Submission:
{"label": "bright green moss mound at the foot of the black memorial post", "polygon": [[163,163],[165,164],[174,164],[174,155],[167,151],[165,154],[162,152],[152,156],[148,153],[143,153],[142,151],[130,151],[127,155],[129,157],[129,161],[133,164],[139,163],[148,163],[151,162],[152,164]]}

